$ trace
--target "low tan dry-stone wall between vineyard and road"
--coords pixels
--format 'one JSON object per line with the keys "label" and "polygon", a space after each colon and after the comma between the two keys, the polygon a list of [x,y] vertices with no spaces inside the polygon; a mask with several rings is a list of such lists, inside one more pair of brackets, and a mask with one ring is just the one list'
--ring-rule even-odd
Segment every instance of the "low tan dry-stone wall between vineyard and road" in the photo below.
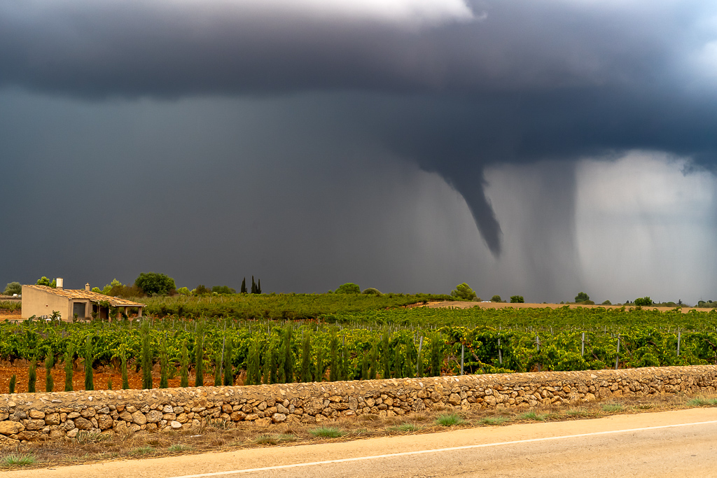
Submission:
{"label": "low tan dry-stone wall between vineyard and road", "polygon": [[[0,446],[206,424],[315,424],[341,416],[432,408],[529,408],[610,397],[715,393],[717,366],[513,373],[333,383],[0,395]],[[229,425],[231,426],[231,425]]]}

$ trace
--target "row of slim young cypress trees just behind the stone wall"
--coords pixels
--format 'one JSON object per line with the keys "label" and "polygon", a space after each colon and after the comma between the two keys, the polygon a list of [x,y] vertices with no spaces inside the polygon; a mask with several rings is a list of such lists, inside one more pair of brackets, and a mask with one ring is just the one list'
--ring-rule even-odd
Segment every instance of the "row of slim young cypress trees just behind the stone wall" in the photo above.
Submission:
{"label": "row of slim young cypress trees just behind the stone wall", "polygon": [[[140,368],[142,371],[142,388],[153,388],[152,367],[153,353],[150,342],[150,322],[144,320],[141,325],[142,345]],[[204,321],[196,322],[194,340],[194,386],[204,385]],[[295,358],[292,350],[293,328],[290,326],[282,330],[278,340],[252,340],[247,356],[247,385],[260,383],[291,383],[294,381],[346,381],[369,380],[371,378],[406,378],[423,376],[426,371],[426,358],[429,363],[429,376],[438,376],[441,373],[443,350],[440,335],[431,335],[429,350],[416,348],[413,340],[395,340],[391,344],[389,333],[384,333],[381,340],[375,340],[370,347],[359,353],[360,366],[351,366],[351,355],[343,340],[339,340],[336,330],[333,330],[328,345],[328,357],[324,357],[324,349],[317,347],[313,350],[311,333],[303,334],[301,340],[300,368],[294,370]],[[85,363],[85,390],[94,390],[92,371],[93,344],[92,336],[88,335],[85,347],[81,350]],[[224,338],[221,350],[214,354],[214,386],[234,384],[234,366],[232,364],[233,343],[230,338]],[[65,391],[72,391],[73,367],[72,358],[75,350],[72,346],[65,352]],[[122,388],[128,389],[128,357],[125,352],[120,353],[120,373]],[[48,354],[44,360],[47,371],[45,390],[53,391],[54,383],[50,371],[54,365],[54,357]],[[181,349],[180,359],[180,386],[189,386],[189,350],[186,343]],[[160,381],[159,388],[168,388],[170,373],[174,376],[176,369],[168,361],[166,334],[160,343]],[[33,359],[29,368],[28,391],[36,391],[37,360]],[[328,371],[328,377],[326,372]],[[10,393],[14,393],[16,377],[10,381]],[[111,381],[108,388],[112,388]]]}

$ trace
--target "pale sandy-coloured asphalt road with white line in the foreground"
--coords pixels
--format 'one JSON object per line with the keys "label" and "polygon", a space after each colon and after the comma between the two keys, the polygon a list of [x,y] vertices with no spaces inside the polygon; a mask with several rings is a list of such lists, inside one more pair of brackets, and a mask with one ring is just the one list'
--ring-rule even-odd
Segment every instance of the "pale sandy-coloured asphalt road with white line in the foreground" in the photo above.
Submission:
{"label": "pale sandy-coloured asphalt road with white line in the foreground", "polygon": [[9,478],[717,477],[717,408],[6,472]]}

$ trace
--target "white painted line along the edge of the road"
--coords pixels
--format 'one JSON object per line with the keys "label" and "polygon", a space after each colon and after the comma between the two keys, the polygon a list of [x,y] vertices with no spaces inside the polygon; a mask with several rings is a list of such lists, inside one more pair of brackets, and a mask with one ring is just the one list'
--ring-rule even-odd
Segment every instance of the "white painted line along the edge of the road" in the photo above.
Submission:
{"label": "white painted line along the edge of the road", "polygon": [[392,458],[392,457],[408,457],[410,455],[420,455],[426,453],[440,453],[441,451],[455,451],[455,450],[467,450],[474,448],[488,448],[490,446],[503,446],[503,445],[515,445],[521,443],[534,443],[536,441],[549,441],[549,440],[563,440],[571,438],[580,438],[583,436],[599,436],[599,435],[611,435],[619,433],[630,433],[632,431],[649,431],[649,430],[660,430],[677,428],[679,426],[693,426],[693,425],[711,425],[717,424],[717,420],[711,421],[696,421],[690,424],[675,424],[675,425],[660,425],[660,426],[645,426],[639,429],[627,429],[627,430],[610,430],[610,431],[594,431],[592,433],[581,433],[576,435],[561,435],[561,436],[546,436],[543,438],[531,438],[525,440],[513,440],[513,441],[499,441],[498,443],[484,443],[478,445],[465,445],[465,446],[451,446],[450,448],[437,448],[432,450],[419,450],[419,451],[402,451],[401,453],[389,453],[384,455],[371,455],[369,457],[354,457],[354,458],[341,458],[335,460],[326,460],[324,462],[308,462],[308,463],[293,463],[293,464],[282,464],[275,467],[264,467],[264,468],[246,468],[236,469],[230,472],[213,472],[213,473],[201,473],[201,474],[186,474],[179,477],[168,477],[168,478],[202,478],[202,477],[218,477],[227,474],[239,474],[239,473],[252,473],[252,472],[270,472],[277,469],[288,469],[298,467],[313,467],[319,464],[332,464],[332,463],[346,463],[346,462],[360,462],[363,460],[373,460],[381,458]]}

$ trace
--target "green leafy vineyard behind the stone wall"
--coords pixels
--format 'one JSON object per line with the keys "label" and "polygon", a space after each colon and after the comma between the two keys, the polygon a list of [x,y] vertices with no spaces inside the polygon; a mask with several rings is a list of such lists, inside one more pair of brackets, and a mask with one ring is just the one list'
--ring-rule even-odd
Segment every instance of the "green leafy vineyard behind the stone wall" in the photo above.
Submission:
{"label": "green leafy vineyard behind the stone wall", "polygon": [[428,298],[402,295],[252,300],[149,300],[154,315],[142,322],[3,322],[0,358],[159,368],[185,385],[204,373],[215,384],[285,383],[717,363],[715,310],[406,308]]}

